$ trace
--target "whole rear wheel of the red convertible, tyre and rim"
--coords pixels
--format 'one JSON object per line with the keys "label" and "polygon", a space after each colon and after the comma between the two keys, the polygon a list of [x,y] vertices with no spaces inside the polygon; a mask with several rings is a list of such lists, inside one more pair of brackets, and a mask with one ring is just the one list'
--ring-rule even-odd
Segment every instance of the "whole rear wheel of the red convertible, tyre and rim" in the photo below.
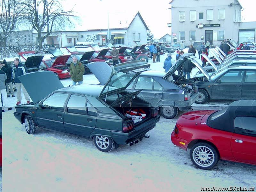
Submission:
{"label": "whole rear wheel of the red convertible, tyre and rim", "polygon": [[190,149],[190,159],[200,169],[212,169],[219,161],[218,151],[208,143],[196,143]]}

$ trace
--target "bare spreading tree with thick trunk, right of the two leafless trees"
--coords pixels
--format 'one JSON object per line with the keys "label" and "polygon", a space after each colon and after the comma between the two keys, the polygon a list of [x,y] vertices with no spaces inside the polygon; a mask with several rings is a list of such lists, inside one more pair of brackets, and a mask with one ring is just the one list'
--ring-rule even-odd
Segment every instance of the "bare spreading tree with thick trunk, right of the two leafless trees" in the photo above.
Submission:
{"label": "bare spreading tree with thick trunk, right of the two leafless trees", "polygon": [[24,5],[27,20],[37,31],[40,48],[53,27],[61,29],[69,25],[69,17],[73,16],[72,10],[64,11],[58,0],[24,0]]}

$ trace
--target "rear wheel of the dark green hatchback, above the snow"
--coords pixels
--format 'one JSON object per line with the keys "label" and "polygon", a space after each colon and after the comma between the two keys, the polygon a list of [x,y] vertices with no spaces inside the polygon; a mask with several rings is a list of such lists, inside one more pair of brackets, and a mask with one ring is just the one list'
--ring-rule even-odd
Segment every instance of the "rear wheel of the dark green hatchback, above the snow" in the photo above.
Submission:
{"label": "rear wheel of the dark green hatchback, above the snow", "polygon": [[[108,142],[108,144],[106,141]],[[96,148],[102,152],[110,152],[115,149],[115,142],[111,137],[96,135],[93,137],[93,142]]]}

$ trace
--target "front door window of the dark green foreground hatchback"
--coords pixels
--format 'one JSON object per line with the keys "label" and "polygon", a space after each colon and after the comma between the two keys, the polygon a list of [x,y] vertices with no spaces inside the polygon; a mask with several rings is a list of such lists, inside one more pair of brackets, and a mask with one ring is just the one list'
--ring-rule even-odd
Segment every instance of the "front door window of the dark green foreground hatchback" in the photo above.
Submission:
{"label": "front door window of the dark green foreground hatchback", "polygon": [[68,98],[68,94],[53,93],[50,97],[44,100],[42,107],[50,106],[52,108],[64,109],[64,104],[67,98]]}

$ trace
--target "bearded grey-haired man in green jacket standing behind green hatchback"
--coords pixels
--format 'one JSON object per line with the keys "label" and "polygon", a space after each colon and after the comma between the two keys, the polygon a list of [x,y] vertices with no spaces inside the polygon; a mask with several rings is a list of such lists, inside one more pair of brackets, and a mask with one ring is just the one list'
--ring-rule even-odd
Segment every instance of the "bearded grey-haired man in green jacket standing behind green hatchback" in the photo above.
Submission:
{"label": "bearded grey-haired man in green jacket standing behind green hatchback", "polygon": [[70,65],[70,75],[72,79],[72,85],[82,84],[84,80],[84,65],[77,60],[76,57],[72,57],[73,62]]}

